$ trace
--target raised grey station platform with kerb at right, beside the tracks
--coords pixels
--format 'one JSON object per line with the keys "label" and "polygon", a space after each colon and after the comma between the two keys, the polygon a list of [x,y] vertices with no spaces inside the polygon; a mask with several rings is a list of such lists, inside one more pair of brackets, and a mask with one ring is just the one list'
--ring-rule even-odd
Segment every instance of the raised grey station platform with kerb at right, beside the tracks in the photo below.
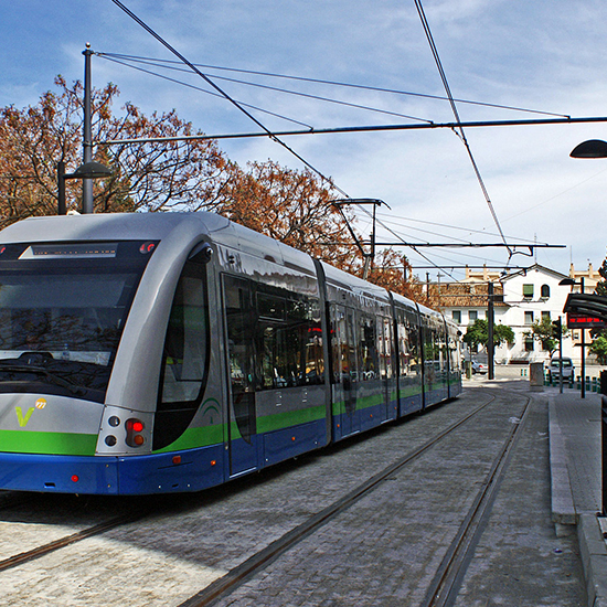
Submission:
{"label": "raised grey station platform with kerb at right, beside the tracks", "polygon": [[601,395],[545,387],[550,415],[552,520],[577,533],[588,605],[607,607],[607,519],[601,515]]}

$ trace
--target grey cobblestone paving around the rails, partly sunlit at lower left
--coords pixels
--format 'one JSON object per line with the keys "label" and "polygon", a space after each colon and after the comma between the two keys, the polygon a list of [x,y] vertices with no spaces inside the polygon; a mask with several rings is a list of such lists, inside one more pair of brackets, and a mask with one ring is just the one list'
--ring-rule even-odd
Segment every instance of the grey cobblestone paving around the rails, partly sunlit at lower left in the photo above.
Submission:
{"label": "grey cobblestone paving around the rails, partly sunlit at lower left", "polygon": [[[155,517],[0,573],[0,605],[177,606],[487,398],[484,391],[469,390],[454,403],[385,426],[365,440],[347,441],[217,490],[158,500],[161,504]],[[446,438],[398,470],[219,605],[418,605],[509,430],[510,419],[520,414],[522,400],[514,401],[499,398],[482,414],[482,427],[476,423],[462,426],[457,437]],[[503,582],[496,573],[500,567],[523,577],[525,573],[522,562],[509,565],[504,555],[500,561],[491,551],[502,533],[519,550],[518,557],[530,552],[530,558],[537,562],[535,568],[545,568],[544,577],[551,583],[555,577],[568,581],[568,586],[563,585],[568,601],[560,603],[561,590],[555,589],[550,605],[582,604],[572,590],[579,594],[582,587],[578,567],[572,565],[577,563],[576,546],[572,540],[556,541],[553,531],[550,534],[547,440],[537,434],[547,432],[541,429],[546,414],[543,404],[536,408],[537,428],[525,429],[529,448],[534,449],[531,459],[502,503],[504,482],[494,507],[501,510],[491,528],[493,536],[487,545],[479,545],[464,587],[466,596],[481,603],[462,605],[532,605],[487,601],[493,595],[482,590],[479,579],[493,575]],[[531,472],[532,478],[526,479]],[[524,500],[515,497],[521,492]],[[39,508],[44,510],[51,503],[56,505],[41,498]],[[124,502],[117,503],[124,508]],[[45,528],[36,517],[35,524],[29,526],[32,521],[26,508],[22,510],[19,542],[11,544],[3,537],[0,546],[4,554],[21,552],[20,544],[29,546],[41,533],[60,530],[58,534],[64,534],[61,525],[73,524],[58,512],[52,525]],[[531,522],[536,521],[534,513],[540,523]],[[18,522],[18,514],[0,513],[0,525],[8,525],[6,532],[14,529],[10,524]],[[505,540],[501,541],[505,546]],[[540,547],[534,552],[530,545]],[[509,596],[503,594],[507,599]]]}

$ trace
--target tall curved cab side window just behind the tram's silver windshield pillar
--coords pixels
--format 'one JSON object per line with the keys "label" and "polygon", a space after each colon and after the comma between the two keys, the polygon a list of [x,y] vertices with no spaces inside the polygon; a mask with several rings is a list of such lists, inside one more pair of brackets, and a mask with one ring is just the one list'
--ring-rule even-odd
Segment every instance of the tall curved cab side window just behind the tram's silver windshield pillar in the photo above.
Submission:
{"label": "tall curved cab side window just behind the tram's silver windshield pillar", "polygon": [[164,340],[159,409],[196,407],[209,358],[204,266],[189,262],[177,286]]}

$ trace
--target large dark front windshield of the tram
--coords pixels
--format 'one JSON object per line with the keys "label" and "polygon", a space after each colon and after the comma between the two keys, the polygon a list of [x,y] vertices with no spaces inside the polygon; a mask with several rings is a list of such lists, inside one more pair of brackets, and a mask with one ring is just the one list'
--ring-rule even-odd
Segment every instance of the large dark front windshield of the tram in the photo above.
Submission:
{"label": "large dark front windshield of the tram", "polygon": [[0,393],[103,402],[155,246],[0,245]]}

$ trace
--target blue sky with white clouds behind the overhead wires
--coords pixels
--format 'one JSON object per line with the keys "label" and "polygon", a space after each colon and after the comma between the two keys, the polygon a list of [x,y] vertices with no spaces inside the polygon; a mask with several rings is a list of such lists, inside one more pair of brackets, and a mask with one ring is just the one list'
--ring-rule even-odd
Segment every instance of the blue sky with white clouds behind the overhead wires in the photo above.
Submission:
{"label": "blue sky with white clouds behind the overhead wires", "polygon": [[[203,70],[212,77],[264,85],[214,81],[238,102],[264,109],[249,111],[269,130],[455,120],[414,0],[124,0],[124,4],[192,63],[359,85]],[[423,7],[462,121],[607,116],[603,0],[425,0]],[[0,107],[35,105],[42,93],[53,89],[57,74],[68,82],[82,79],[87,42],[98,53],[175,60],[111,0],[4,1],[0,35]],[[131,102],[146,113],[174,108],[209,135],[259,131],[225,99],[99,56],[93,56],[92,70],[94,86],[108,82],[118,86],[120,104]],[[209,89],[199,76],[162,73]],[[398,247],[416,275],[457,280],[464,276],[458,266],[465,264],[539,263],[563,274],[571,263],[576,269],[586,269],[589,263],[600,267],[607,254],[607,159],[572,159],[569,152],[586,139],[607,139],[607,123],[481,127],[465,132],[505,241],[511,246],[565,246],[537,248],[533,256],[517,248],[525,255],[511,257],[505,248]],[[317,134],[284,140],[348,196],[385,202],[377,209],[379,242],[502,242],[466,147],[451,129]],[[220,148],[243,167],[271,159],[303,168],[268,138],[221,140]],[[369,238],[369,215],[359,207],[356,217],[356,228]]]}

